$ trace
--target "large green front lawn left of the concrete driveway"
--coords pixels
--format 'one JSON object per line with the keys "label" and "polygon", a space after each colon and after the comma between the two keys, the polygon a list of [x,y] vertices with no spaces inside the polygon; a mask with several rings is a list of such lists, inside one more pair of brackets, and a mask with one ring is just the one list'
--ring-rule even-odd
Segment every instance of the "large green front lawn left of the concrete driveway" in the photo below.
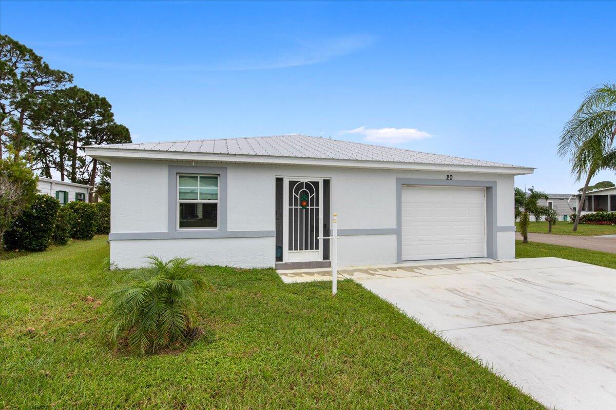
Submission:
{"label": "large green front lawn left of the concrete driveway", "polygon": [[269,269],[204,267],[206,333],[184,352],[111,352],[108,251],[97,237],[2,262],[0,408],[543,408],[362,286],[332,298]]}

